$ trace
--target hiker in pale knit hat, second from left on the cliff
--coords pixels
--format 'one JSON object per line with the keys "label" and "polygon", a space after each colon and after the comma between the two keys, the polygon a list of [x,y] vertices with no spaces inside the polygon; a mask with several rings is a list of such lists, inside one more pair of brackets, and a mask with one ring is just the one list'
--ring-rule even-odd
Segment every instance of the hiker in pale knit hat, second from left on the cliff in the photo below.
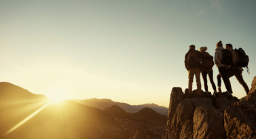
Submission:
{"label": "hiker in pale knit hat, second from left on the cliff", "polygon": [[[207,56],[211,56],[210,54],[208,54],[206,52],[207,47],[200,47],[199,51]],[[202,58],[202,62],[201,62],[201,73],[202,73],[202,79],[204,79],[204,90],[206,92],[206,94],[208,94],[208,85],[207,85],[207,75],[210,79],[210,82],[212,84],[213,90],[214,90],[214,94],[217,94],[216,91],[216,85],[213,81],[213,59],[207,59],[207,58]]]}

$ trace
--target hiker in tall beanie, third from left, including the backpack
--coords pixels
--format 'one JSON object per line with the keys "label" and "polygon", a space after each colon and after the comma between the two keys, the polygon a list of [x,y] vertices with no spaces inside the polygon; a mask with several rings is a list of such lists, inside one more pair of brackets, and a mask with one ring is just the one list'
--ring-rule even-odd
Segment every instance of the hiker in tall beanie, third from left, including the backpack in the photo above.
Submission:
{"label": "hiker in tall beanie, third from left, including the backpack", "polygon": [[[216,49],[215,49],[215,64],[219,70],[219,74],[221,75],[225,88],[227,89],[227,94],[233,94],[231,84],[230,84],[230,79],[227,77],[227,65],[229,65],[230,61],[232,63],[232,53],[231,57],[230,54],[228,53],[229,51],[226,51],[225,48],[223,48],[223,45],[221,41],[219,41],[216,44]],[[231,60],[230,60],[231,58]],[[218,82],[218,88],[219,88],[219,93],[221,93],[221,83]]]}

